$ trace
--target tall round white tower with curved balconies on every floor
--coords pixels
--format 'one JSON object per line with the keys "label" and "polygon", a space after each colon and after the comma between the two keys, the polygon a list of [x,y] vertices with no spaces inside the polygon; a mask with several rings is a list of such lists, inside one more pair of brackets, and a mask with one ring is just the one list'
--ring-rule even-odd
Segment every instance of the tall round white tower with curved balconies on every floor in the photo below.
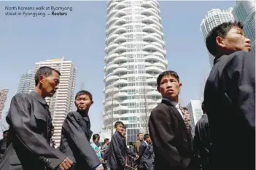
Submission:
{"label": "tall round white tower with curved balconies on every floor", "polygon": [[156,78],[167,69],[156,0],[107,1],[104,58],[104,126],[127,127],[128,142],[147,132],[150,111],[160,102]]}

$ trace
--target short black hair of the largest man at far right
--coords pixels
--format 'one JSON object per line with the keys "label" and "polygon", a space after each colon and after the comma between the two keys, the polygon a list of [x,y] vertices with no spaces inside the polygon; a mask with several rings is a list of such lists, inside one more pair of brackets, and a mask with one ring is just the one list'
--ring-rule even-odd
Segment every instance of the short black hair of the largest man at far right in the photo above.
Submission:
{"label": "short black hair of the largest man at far right", "polygon": [[228,31],[230,31],[230,29],[233,28],[233,27],[238,27],[238,28],[243,29],[243,25],[239,21],[226,22],[226,23],[222,23],[220,25],[217,25],[217,27],[213,28],[212,31],[210,31],[208,33],[208,35],[206,36],[206,47],[207,47],[208,51],[214,57],[216,57],[216,55],[218,54],[217,53],[218,47],[217,47],[217,43],[216,43],[216,38],[218,36],[221,36],[221,37],[227,36]]}

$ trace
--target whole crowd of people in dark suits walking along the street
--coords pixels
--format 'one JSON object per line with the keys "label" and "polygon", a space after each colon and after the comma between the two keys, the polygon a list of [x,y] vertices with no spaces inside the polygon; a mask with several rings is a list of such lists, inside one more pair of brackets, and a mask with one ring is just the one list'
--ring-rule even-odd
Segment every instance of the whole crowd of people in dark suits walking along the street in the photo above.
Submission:
{"label": "whole crowd of people in dark suits walking along the street", "polygon": [[[239,22],[218,25],[206,37],[214,66],[206,81],[203,116],[191,133],[190,114],[179,103],[182,83],[166,70],[157,78],[162,102],[150,114],[149,134],[127,146],[126,127],[115,123],[111,140],[99,145],[90,130],[93,95],[75,96],[76,111],[67,114],[61,143],[54,147],[53,124],[45,97],[53,97],[61,73],[41,67],[35,89],[16,94],[7,115],[8,131],[0,145],[1,170],[255,170],[255,56]],[[90,138],[93,142],[90,143]]]}

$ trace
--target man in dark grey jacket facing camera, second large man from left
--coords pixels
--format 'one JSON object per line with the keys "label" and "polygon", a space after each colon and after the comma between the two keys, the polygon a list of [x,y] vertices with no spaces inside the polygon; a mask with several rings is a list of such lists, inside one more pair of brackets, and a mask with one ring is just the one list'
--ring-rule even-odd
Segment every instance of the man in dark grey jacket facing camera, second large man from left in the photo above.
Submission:
{"label": "man in dark grey jacket facing camera, second large man from left", "polygon": [[73,158],[76,162],[75,170],[103,170],[93,147],[90,146],[93,131],[90,131],[89,110],[93,105],[93,96],[88,91],[79,91],[74,104],[77,111],[69,113],[63,122],[60,150]]}

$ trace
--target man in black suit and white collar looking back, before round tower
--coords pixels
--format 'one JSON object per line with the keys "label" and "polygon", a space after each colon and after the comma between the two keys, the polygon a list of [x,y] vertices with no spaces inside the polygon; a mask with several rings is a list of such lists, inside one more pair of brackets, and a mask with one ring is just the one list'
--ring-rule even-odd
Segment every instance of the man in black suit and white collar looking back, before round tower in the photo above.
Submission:
{"label": "man in black suit and white collar looking back, before round tower", "polygon": [[157,79],[162,102],[152,110],[149,120],[150,137],[155,153],[155,169],[189,169],[192,147],[189,129],[179,105],[182,84],[175,71],[160,73]]}

